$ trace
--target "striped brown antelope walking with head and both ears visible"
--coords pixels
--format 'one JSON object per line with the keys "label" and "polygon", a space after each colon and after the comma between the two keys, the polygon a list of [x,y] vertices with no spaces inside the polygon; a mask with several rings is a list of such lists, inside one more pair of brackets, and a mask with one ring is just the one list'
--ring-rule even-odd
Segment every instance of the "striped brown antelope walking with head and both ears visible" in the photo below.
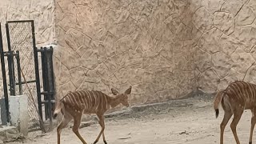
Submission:
{"label": "striped brown antelope walking with head and both ears visible", "polygon": [[98,116],[98,123],[102,127],[102,130],[98,134],[98,137],[94,141],[94,144],[98,142],[98,139],[103,138],[103,142],[106,143],[106,138],[104,135],[105,124],[104,124],[104,113],[118,106],[122,103],[123,106],[130,106],[128,102],[128,94],[131,92],[131,86],[123,93],[119,94],[118,90],[111,89],[114,97],[110,97],[101,91],[94,90],[77,90],[66,94],[58,103],[54,110],[54,118],[57,117],[57,114],[61,112],[64,117],[62,122],[57,128],[58,134],[58,144],[60,144],[60,134],[61,131],[66,125],[74,119],[73,132],[77,137],[82,141],[83,144],[86,144],[86,141],[78,132],[78,128],[81,123],[82,114],[96,114]]}

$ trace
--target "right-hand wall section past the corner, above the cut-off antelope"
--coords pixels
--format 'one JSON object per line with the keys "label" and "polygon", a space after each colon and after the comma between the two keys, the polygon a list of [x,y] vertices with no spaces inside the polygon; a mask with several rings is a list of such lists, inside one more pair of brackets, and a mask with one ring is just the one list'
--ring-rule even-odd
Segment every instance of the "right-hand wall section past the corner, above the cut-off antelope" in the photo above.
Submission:
{"label": "right-hand wall section past the corner, above the cut-off antelope", "polygon": [[256,1],[198,1],[192,21],[202,36],[196,42],[195,73],[205,92],[230,82],[256,84]]}

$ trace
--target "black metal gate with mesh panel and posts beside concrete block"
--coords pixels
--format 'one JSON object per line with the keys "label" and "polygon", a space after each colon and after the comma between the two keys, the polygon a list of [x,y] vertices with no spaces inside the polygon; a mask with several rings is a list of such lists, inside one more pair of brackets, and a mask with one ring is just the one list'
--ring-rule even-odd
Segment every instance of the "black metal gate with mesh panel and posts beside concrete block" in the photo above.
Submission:
{"label": "black metal gate with mesh panel and posts beside concrete block", "polygon": [[[40,126],[44,127],[42,106],[45,106],[45,119],[49,118],[52,123],[51,109],[54,106],[53,48],[38,49],[36,47],[33,20],[6,22],[6,37],[8,51],[3,51],[0,42],[0,52],[7,122],[10,122],[10,117],[5,57],[8,61],[10,95],[26,94],[28,96],[29,130],[38,130]],[[42,58],[40,59],[42,60],[42,87],[40,86],[38,54],[41,54]]]}

